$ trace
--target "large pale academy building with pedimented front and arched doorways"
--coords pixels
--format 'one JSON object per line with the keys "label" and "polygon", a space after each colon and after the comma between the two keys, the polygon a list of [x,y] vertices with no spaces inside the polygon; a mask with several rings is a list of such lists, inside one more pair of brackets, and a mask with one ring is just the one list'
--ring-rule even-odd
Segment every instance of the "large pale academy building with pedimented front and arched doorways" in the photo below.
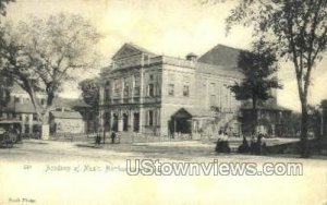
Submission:
{"label": "large pale academy building with pedimented front and arched doorways", "polygon": [[228,88],[242,73],[228,65],[153,53],[123,45],[101,72],[100,119],[106,131],[169,135],[231,130],[240,101]]}

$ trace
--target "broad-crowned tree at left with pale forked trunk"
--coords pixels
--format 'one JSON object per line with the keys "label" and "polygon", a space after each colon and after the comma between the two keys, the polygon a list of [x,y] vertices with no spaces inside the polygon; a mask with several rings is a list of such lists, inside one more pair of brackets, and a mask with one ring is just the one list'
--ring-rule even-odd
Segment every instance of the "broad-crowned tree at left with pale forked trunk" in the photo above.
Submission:
{"label": "broad-crowned tree at left with pale forked trunk", "polygon": [[[48,123],[49,110],[64,82],[95,65],[99,34],[80,15],[34,17],[1,27],[1,70],[31,97],[38,119]],[[37,95],[46,96],[41,105]]]}

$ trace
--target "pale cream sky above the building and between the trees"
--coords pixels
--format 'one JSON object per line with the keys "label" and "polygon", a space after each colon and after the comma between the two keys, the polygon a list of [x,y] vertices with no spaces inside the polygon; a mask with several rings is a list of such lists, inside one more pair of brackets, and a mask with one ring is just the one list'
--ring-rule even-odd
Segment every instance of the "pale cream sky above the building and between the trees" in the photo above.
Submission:
{"label": "pale cream sky above the building and between the trees", "polygon": [[[249,49],[252,29],[233,27],[227,36],[225,19],[237,5],[235,0],[217,4],[201,4],[198,0],[16,0],[8,7],[7,19],[26,21],[31,15],[47,17],[60,12],[88,19],[104,38],[97,49],[110,63],[110,58],[124,43],[133,43],[158,55],[184,58],[198,56],[218,44]],[[280,63],[278,73],[283,89],[278,91],[278,104],[300,110],[300,100],[291,63]],[[310,104],[327,98],[327,58],[313,71],[308,93]],[[84,75],[96,76],[96,72]],[[63,97],[78,97],[76,83],[66,86]]]}

